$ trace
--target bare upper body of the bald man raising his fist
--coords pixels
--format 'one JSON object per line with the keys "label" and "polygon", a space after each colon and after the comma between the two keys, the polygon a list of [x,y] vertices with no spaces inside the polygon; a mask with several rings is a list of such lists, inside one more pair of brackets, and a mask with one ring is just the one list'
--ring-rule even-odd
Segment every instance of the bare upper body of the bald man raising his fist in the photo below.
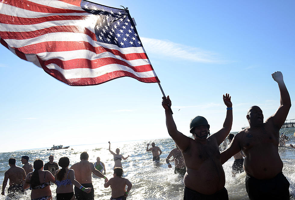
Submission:
{"label": "bare upper body of the bald man raising his fist", "polygon": [[263,123],[262,110],[252,106],[247,112],[249,127],[234,136],[228,149],[221,153],[221,163],[243,150],[244,170],[256,179],[271,179],[283,169],[278,153],[279,130],[284,124],[291,107],[290,95],[280,71],[272,74],[280,89],[278,110]]}

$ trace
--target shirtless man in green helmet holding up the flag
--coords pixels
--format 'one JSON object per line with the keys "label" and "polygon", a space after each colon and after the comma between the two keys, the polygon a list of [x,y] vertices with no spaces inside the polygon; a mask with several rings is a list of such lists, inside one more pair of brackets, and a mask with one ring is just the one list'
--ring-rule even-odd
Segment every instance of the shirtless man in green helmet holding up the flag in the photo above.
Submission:
{"label": "shirtless man in green helmet holding up the flag", "polygon": [[194,137],[192,139],[177,130],[169,110],[170,98],[163,97],[162,106],[165,109],[168,133],[181,150],[186,165],[184,200],[228,199],[219,145],[230,132],[232,125],[232,103],[229,94],[223,95],[223,102],[228,108],[222,129],[208,137],[210,126],[207,120],[197,116],[190,123],[190,132]]}

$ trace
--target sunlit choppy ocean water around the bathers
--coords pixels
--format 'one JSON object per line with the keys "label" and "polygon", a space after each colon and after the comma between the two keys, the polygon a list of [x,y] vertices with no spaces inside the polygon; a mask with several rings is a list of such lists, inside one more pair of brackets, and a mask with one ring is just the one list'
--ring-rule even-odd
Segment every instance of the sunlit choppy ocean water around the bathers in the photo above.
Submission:
{"label": "sunlit choppy ocean water around the bathers", "polygon": [[[289,137],[289,141],[286,142],[286,146],[289,144],[295,144],[294,132],[295,128],[281,129]],[[152,162],[152,153],[146,152],[147,143],[155,142],[156,146],[162,150],[160,156],[160,163],[155,164]],[[73,148],[73,150],[71,150]],[[161,199],[183,199],[184,184],[181,177],[174,174],[174,166],[168,168],[165,162],[169,152],[175,148],[174,141],[171,138],[144,140],[144,141],[131,141],[121,143],[111,143],[111,150],[115,151],[116,148],[120,149],[120,154],[123,156],[130,155],[126,160],[122,160],[123,165],[123,177],[130,180],[132,183],[132,189],[129,192],[127,199],[147,199],[147,200],[161,200]],[[17,162],[17,166],[22,166],[21,156],[27,155],[30,157],[30,163],[37,158],[40,158],[44,163],[48,162],[48,156],[52,153],[54,155],[54,161],[58,162],[58,159],[62,156],[67,156],[70,159],[70,166],[80,161],[80,153],[87,151],[89,154],[89,161],[95,162],[96,157],[100,157],[101,161],[106,166],[107,178],[113,177],[113,156],[108,151],[108,143],[95,144],[95,145],[81,145],[70,147],[69,149],[61,149],[48,151],[43,150],[26,150],[16,151],[8,153],[0,153],[0,183],[3,182],[4,173],[8,170],[8,159],[14,157]],[[291,199],[295,199],[295,149],[291,148],[279,148],[279,154],[284,163],[283,173],[290,182]],[[235,177],[231,176],[231,165],[234,159],[229,159],[224,165],[225,171],[225,187],[228,190],[229,199],[249,199],[245,189],[245,172],[237,174]],[[173,162],[171,162],[173,163]],[[104,180],[92,176],[92,182],[95,189],[95,199],[106,200],[110,199],[111,189],[104,188]],[[51,191],[53,199],[56,196],[55,185],[51,185]],[[5,194],[7,194],[8,186],[6,186]],[[5,199],[6,196],[0,195],[0,200]],[[30,199],[30,190],[23,200]]]}

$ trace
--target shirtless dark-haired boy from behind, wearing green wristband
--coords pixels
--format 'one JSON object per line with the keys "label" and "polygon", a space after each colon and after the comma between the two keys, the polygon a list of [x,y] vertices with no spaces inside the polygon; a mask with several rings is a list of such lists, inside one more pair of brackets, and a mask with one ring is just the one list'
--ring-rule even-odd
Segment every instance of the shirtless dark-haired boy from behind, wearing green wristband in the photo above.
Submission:
{"label": "shirtless dark-haired boy from behind, wearing green wristband", "polygon": [[[114,168],[113,178],[109,181],[104,183],[104,187],[107,188],[108,186],[112,189],[112,196],[110,200],[125,200],[128,196],[128,193],[132,187],[130,181],[126,178],[122,177],[123,169],[121,167]],[[127,191],[126,191],[127,185]]]}

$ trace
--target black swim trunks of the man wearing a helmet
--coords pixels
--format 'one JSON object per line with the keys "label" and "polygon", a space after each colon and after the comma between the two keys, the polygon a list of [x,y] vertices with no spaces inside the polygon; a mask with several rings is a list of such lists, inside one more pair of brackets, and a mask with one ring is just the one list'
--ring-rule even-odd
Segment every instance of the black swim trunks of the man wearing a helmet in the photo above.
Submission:
{"label": "black swim trunks of the man wearing a helmet", "polygon": [[195,200],[195,199],[228,200],[228,193],[225,187],[212,195],[204,195],[188,187],[185,187],[183,200]]}

